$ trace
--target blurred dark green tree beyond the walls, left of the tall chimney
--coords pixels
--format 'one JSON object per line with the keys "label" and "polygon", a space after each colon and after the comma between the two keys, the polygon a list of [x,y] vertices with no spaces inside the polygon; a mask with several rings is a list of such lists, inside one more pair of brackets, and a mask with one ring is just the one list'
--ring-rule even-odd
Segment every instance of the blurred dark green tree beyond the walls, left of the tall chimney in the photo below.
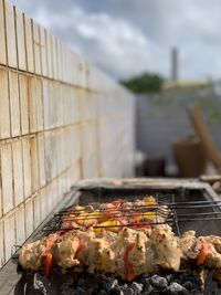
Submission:
{"label": "blurred dark green tree beyond the walls, left of the tall chimney", "polygon": [[134,93],[160,92],[164,78],[157,74],[144,73],[120,82],[124,86]]}

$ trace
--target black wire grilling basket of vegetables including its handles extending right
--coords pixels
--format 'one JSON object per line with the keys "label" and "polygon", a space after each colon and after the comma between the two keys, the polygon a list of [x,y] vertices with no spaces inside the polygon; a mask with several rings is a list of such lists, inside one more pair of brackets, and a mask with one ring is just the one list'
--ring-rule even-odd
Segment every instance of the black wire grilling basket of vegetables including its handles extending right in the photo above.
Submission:
{"label": "black wire grilling basket of vegetables including its handles extending right", "polygon": [[[144,198],[145,196],[143,196]],[[133,218],[139,217],[139,226],[156,225],[156,224],[169,224],[172,226],[176,234],[180,235],[182,232],[182,224],[196,223],[196,222],[209,222],[214,220],[221,220],[221,201],[178,201],[173,194],[156,194],[156,204],[138,206],[136,201],[140,199],[140,196],[124,196],[122,197],[122,204],[117,209],[106,208],[105,206],[109,202],[116,201],[116,198],[107,199],[106,203],[92,202],[85,206],[84,209],[76,209],[75,204],[61,210],[55,213],[54,217],[43,228],[43,235],[57,231],[67,231],[73,229],[85,230],[93,225],[95,229],[105,228],[136,228],[137,222],[131,222]],[[125,207],[126,202],[130,202],[131,207]],[[93,215],[92,215],[93,214]],[[103,224],[103,214],[105,214],[105,221],[116,221],[115,224]],[[148,219],[147,217],[155,215],[155,219]],[[127,219],[127,223],[118,224],[117,221]],[[73,224],[74,220],[81,221],[78,224]],[[93,223],[94,224],[90,224]],[[70,226],[63,226],[64,221]]]}

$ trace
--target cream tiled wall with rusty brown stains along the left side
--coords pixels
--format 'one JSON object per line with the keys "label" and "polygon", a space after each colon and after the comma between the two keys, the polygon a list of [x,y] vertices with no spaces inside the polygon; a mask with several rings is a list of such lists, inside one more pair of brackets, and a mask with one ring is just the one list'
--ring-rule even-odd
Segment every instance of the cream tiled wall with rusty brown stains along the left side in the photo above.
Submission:
{"label": "cream tiled wall with rusty brown stains along the left side", "polygon": [[0,0],[0,266],[81,178],[133,175],[134,97]]}

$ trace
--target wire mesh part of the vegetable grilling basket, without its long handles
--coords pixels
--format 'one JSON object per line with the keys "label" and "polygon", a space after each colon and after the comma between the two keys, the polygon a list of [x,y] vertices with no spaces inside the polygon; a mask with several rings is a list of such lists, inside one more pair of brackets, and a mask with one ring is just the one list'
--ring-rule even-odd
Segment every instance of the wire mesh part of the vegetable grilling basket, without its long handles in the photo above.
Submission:
{"label": "wire mesh part of the vegetable grilling basket, without its long handles", "polygon": [[[173,203],[173,196],[169,197],[170,202]],[[94,229],[125,226],[135,229],[137,226],[141,228],[154,224],[170,224],[176,229],[176,212],[167,206],[166,200],[168,202],[168,197],[155,196],[156,203],[149,204],[143,204],[143,200],[140,200],[139,203],[138,199],[139,198],[135,196],[120,200],[115,199],[115,204],[116,202],[118,203],[116,208],[109,208],[113,201],[112,203],[92,202],[84,208],[78,207],[78,209],[75,206],[71,206],[55,213],[52,220],[43,228],[43,232],[48,234],[61,230],[85,230],[92,225]],[[104,220],[107,224],[103,224],[104,222],[102,221]],[[135,222],[134,220],[139,220],[139,222]],[[77,221],[81,225],[75,224],[74,221]],[[113,223],[113,221],[115,223]],[[64,223],[66,223],[67,226],[64,226]],[[178,229],[176,229],[176,232],[179,233]]]}

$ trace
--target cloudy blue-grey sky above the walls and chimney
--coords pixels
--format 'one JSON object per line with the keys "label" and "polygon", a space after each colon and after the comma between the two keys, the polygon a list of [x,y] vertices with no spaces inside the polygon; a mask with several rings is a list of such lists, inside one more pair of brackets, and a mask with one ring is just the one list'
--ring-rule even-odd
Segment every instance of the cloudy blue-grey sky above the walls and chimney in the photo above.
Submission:
{"label": "cloudy blue-grey sky above the walls and chimney", "polygon": [[18,8],[117,78],[140,72],[221,77],[220,0],[12,0]]}

